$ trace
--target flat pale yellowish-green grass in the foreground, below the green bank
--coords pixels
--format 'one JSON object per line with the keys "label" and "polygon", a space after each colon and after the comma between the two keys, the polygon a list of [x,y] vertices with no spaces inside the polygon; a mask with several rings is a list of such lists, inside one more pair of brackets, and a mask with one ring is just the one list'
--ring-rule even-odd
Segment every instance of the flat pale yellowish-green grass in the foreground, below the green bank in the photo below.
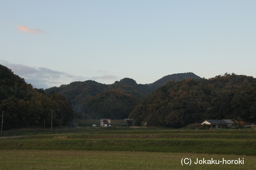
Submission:
{"label": "flat pale yellowish-green grass in the foreground, below the green bank", "polygon": [[[182,158],[191,158],[192,164],[182,166]],[[194,164],[198,159],[240,160],[244,164]],[[170,170],[170,169],[255,169],[255,156],[190,154],[162,152],[81,151],[81,150],[0,150],[0,169],[61,170]]]}

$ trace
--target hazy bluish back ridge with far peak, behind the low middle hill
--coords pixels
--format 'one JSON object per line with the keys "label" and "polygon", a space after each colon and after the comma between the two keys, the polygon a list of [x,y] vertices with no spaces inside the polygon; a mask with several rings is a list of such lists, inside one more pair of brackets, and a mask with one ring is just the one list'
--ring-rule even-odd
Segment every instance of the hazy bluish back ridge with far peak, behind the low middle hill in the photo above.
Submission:
{"label": "hazy bluish back ridge with far peak, behind the low middle hill", "polygon": [[[88,107],[84,104],[87,103],[86,100],[92,96],[96,96],[97,94],[108,92],[110,90],[118,90],[125,94],[130,94],[134,98],[142,99],[152,94],[152,92],[158,88],[160,82],[165,84],[164,82],[168,82],[169,80],[182,80],[187,77],[200,78],[194,73],[189,72],[165,76],[152,84],[137,84],[136,81],[131,78],[123,78],[120,81],[114,82],[114,84],[108,85],[101,84],[93,80],[87,80],[84,82],[72,82],[68,85],[61,85],[60,87],[48,88],[44,91],[46,94],[60,93],[64,95],[66,99],[70,101],[76,113],[85,112],[86,114],[92,115],[92,117],[94,117],[95,114],[88,112]],[[112,105],[112,107],[115,107],[114,103]],[[112,117],[112,115],[109,115],[109,117]]]}

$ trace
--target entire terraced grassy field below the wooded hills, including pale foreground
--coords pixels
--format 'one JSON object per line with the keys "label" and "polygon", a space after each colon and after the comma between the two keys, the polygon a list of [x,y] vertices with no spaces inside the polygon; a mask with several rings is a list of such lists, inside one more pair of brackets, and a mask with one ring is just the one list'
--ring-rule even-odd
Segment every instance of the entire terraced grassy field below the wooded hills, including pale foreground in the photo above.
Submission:
{"label": "entire terraced grassy field below the wooded hills, including pale foreground", "polygon": [[[84,127],[5,131],[0,169],[255,169],[256,131]],[[191,164],[182,158],[242,160]]]}

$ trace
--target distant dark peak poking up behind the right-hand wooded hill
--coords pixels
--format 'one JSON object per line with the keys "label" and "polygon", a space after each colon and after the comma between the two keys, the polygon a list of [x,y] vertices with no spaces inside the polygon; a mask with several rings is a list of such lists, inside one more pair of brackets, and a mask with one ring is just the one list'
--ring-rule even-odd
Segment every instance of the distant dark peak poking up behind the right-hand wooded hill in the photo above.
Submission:
{"label": "distant dark peak poking up behind the right-hand wooded hill", "polygon": [[158,88],[158,87],[164,86],[170,80],[174,80],[174,81],[178,82],[178,81],[181,81],[183,79],[188,79],[188,78],[200,79],[201,77],[197,76],[196,74],[194,74],[192,72],[170,74],[170,75],[160,78],[159,80],[155,81],[154,83],[149,84],[149,86]]}

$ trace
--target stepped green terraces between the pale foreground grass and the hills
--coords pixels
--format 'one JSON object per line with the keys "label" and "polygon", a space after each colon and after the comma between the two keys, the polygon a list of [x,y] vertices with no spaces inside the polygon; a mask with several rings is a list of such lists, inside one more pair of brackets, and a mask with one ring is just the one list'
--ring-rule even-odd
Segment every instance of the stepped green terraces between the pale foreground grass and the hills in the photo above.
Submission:
{"label": "stepped green terraces between the pale foreground grass and the hills", "polygon": [[100,129],[84,133],[1,138],[0,149],[185,152],[256,156],[254,130],[144,131]]}

